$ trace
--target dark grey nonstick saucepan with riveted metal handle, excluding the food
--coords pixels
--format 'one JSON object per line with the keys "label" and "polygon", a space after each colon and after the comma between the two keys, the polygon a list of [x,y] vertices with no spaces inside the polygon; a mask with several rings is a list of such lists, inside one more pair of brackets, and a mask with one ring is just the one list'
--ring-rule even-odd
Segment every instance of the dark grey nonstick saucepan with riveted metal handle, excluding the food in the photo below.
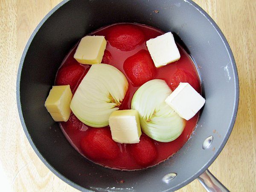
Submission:
{"label": "dark grey nonstick saucepan with riveted metal handle, excluding the food", "polygon": [[[106,169],[82,157],[44,107],[67,52],[86,34],[120,22],[176,34],[195,62],[206,98],[183,148],[157,166],[129,172]],[[207,168],[230,136],[238,102],[238,73],[230,46],[192,0],[64,0],[32,33],[17,75],[17,106],[29,143],[55,175],[81,191],[175,191],[198,177],[209,190],[227,190]]]}

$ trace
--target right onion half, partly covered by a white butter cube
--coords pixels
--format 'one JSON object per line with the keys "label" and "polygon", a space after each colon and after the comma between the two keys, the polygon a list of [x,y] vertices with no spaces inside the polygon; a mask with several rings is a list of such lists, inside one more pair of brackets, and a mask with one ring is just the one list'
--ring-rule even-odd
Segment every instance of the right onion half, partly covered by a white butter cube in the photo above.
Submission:
{"label": "right onion half, partly covered by a white butter cube", "polygon": [[153,140],[173,141],[186,125],[186,121],[165,103],[171,93],[164,80],[154,79],[143,84],[131,100],[131,108],[139,111],[143,132]]}

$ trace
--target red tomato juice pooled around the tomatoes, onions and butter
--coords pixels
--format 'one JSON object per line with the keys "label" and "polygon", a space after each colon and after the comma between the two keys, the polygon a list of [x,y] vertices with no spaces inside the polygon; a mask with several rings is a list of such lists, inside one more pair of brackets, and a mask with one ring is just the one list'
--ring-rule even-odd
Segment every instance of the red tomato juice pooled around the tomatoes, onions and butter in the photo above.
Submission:
{"label": "red tomato juice pooled around the tomatoes, onions and butter", "polygon": [[[111,30],[111,27],[116,25],[119,25],[119,24],[103,27],[95,32],[90,33],[89,35],[103,35],[108,41],[108,32]],[[136,54],[142,49],[148,50],[145,42],[150,38],[155,38],[164,33],[159,29],[155,29],[150,26],[133,24],[133,23],[129,23],[128,25],[134,25],[138,29],[143,31],[143,34],[145,35],[144,41],[140,45],[138,45],[137,47],[129,51],[127,50],[124,51],[124,50],[120,50],[115,47],[112,47],[111,44],[108,42],[107,47],[105,49],[105,54],[102,60],[104,61],[104,63],[111,64],[117,69],[119,69],[126,76],[129,82],[129,88],[125,95],[125,98],[122,101],[120,110],[131,108],[132,96],[134,95],[135,91],[139,88],[134,86],[131,80],[125,74],[125,71],[123,69],[124,61],[128,57]],[[68,65],[81,65],[85,68],[83,75],[80,77],[80,80],[77,82],[75,88],[73,88],[72,90],[73,94],[75,93],[76,88],[79,85],[79,82],[81,82],[81,80],[83,79],[83,77],[86,75],[87,71],[90,68],[90,65],[79,64],[73,58],[73,55],[76,51],[76,47],[77,45],[70,50],[70,52],[68,53],[66,58],[64,58],[64,61],[61,64],[61,67],[68,66]],[[180,59],[178,61],[175,61],[174,63],[157,68],[156,76],[154,77],[154,79],[163,79],[166,81],[167,84],[171,84],[172,78],[175,75],[175,71],[177,71],[177,69],[185,70],[189,72],[196,79],[197,81],[196,83],[198,83],[198,87],[199,87],[197,91],[200,93],[201,86],[199,83],[200,81],[199,81],[197,70],[195,68],[195,64],[193,63],[189,55],[186,53],[186,51],[179,44],[177,44],[177,47],[180,52]],[[57,73],[57,76],[58,76],[58,73]],[[176,140],[172,142],[162,143],[162,142],[158,142],[151,139],[154,142],[154,145],[157,149],[157,157],[149,165],[143,166],[138,164],[127,148],[127,145],[130,145],[130,144],[120,144],[120,143],[118,143],[119,150],[120,150],[119,155],[114,160],[102,159],[102,160],[93,160],[93,162],[99,165],[105,166],[107,168],[119,169],[119,170],[145,169],[147,167],[157,165],[158,163],[163,162],[164,160],[167,160],[169,157],[175,154],[186,143],[186,141],[189,139],[190,135],[192,134],[192,131],[196,126],[197,120],[198,120],[198,113],[192,119],[189,119],[188,121],[186,121],[186,126],[184,128],[183,133]],[[76,150],[79,151],[80,154],[85,156],[80,146],[81,139],[87,133],[88,129],[97,129],[97,128],[92,128],[90,126],[84,125],[81,122],[78,123],[79,125],[76,125],[77,126],[76,128],[73,128],[72,126],[70,126],[69,123],[65,123],[65,122],[60,122],[59,124],[64,135],[69,140],[70,144],[73,145],[73,147],[76,148]],[[105,128],[110,129],[109,126],[106,126]],[[91,150],[93,150],[93,148]]]}

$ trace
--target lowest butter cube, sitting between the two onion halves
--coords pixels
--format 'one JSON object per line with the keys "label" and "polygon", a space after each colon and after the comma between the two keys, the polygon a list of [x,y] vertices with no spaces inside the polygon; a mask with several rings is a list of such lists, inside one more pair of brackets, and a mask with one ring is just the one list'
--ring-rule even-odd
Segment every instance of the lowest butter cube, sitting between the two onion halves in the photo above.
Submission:
{"label": "lowest butter cube, sitting between the two onion halves", "polygon": [[113,111],[109,117],[112,139],[118,143],[139,143],[140,119],[137,110]]}

